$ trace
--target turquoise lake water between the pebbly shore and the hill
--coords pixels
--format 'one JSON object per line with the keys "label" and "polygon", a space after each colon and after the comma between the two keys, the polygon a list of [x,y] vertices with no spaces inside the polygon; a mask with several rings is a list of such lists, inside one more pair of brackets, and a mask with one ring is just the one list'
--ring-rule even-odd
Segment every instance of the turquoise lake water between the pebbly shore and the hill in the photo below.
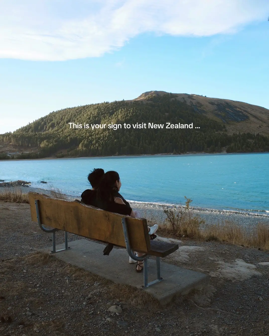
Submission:
{"label": "turquoise lake water between the pebbly shore and the hill", "polygon": [[0,179],[80,196],[93,168],[118,171],[128,200],[184,204],[187,196],[202,208],[269,213],[267,153],[0,161]]}

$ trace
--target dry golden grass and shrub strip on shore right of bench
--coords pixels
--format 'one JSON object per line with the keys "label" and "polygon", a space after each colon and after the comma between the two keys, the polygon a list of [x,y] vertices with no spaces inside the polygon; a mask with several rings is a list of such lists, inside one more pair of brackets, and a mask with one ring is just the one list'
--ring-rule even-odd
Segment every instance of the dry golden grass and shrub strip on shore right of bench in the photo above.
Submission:
{"label": "dry golden grass and shrub strip on shore right of bench", "polygon": [[269,250],[269,225],[258,223],[243,226],[234,221],[225,220],[217,224],[205,224],[199,216],[193,216],[190,210],[191,199],[186,198],[186,206],[163,206],[166,220],[159,226],[158,233],[176,238],[189,237],[207,241],[225,241],[235,245],[256,247]]}

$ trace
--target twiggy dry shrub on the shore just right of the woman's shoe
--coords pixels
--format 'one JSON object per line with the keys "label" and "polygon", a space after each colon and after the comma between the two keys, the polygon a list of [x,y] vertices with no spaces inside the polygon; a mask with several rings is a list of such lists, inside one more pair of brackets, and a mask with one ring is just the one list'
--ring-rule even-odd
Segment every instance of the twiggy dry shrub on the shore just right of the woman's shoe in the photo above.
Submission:
{"label": "twiggy dry shrub on the shore just right of the woman's shoe", "polygon": [[193,216],[190,210],[192,200],[185,196],[186,205],[163,206],[167,216],[161,230],[176,237],[200,238],[200,225],[204,220],[199,216]]}

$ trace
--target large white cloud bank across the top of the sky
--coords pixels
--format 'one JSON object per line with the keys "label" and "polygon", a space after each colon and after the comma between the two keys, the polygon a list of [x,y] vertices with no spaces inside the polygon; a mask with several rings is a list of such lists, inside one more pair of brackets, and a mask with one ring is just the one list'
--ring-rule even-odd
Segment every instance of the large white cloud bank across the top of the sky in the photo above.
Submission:
{"label": "large white cloud bank across the top of the sky", "polygon": [[0,57],[98,57],[141,33],[234,33],[268,12],[268,0],[0,0]]}

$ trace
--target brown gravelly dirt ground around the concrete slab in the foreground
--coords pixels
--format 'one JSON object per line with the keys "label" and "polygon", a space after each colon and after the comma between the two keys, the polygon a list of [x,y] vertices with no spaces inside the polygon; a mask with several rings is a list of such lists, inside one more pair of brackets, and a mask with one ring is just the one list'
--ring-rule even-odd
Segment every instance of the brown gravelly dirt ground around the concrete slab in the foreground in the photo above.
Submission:
{"label": "brown gravelly dirt ground around the concrete slab in the foreground", "polygon": [[142,290],[36,252],[51,246],[51,235],[31,221],[29,204],[0,202],[0,335],[268,335],[268,251],[178,242],[165,261],[204,272],[210,283],[159,307]]}

